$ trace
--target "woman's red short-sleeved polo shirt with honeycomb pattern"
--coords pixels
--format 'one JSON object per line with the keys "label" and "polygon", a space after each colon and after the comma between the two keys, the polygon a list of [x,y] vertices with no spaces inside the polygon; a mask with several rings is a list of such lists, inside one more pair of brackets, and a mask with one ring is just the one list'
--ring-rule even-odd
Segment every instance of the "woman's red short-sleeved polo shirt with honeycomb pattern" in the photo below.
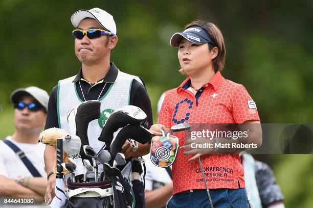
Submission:
{"label": "woman's red short-sleeved polo shirt with honeycomb pattern", "polygon": [[[224,79],[220,72],[203,85],[194,95],[188,77],[178,88],[165,97],[158,123],[170,127],[179,123],[243,123],[259,120],[254,101],[240,84]],[[174,134],[179,145],[185,144],[185,134]],[[197,160],[189,162],[193,155],[178,151],[172,166],[173,193],[191,189],[205,189]],[[243,168],[239,154],[206,154],[201,157],[210,189],[244,188]]]}

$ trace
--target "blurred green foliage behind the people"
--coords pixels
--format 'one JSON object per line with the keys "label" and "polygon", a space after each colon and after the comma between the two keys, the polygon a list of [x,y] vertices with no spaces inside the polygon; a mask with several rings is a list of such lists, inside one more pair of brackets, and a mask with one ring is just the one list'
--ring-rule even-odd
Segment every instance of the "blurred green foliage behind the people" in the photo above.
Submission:
{"label": "blurred green foliage behind the people", "polygon": [[[14,132],[9,96],[19,87],[49,93],[77,73],[71,15],[102,8],[113,14],[119,37],[111,61],[143,77],[153,111],[163,91],[185,79],[174,32],[196,18],[214,22],[227,48],[223,76],[243,84],[263,123],[312,123],[313,2],[292,1],[25,1],[0,2],[0,137]],[[156,117],[154,116],[154,121]],[[273,168],[287,207],[313,207],[312,155],[256,155]]]}

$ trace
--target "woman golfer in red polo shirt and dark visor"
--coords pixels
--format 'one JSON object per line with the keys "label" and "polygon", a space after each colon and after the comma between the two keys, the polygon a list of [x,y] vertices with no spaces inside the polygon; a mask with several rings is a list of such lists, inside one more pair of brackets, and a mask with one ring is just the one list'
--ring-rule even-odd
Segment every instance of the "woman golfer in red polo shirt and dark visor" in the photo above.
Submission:
{"label": "woman golfer in red polo shirt and dark visor", "polygon": [[[154,124],[151,131],[160,136],[160,128],[171,132],[170,127],[180,123],[236,123],[239,126],[253,123],[248,135],[250,141],[260,145],[262,134],[255,102],[242,85],[225,79],[220,73],[225,65],[226,49],[216,25],[196,20],[186,25],[184,32],[175,33],[170,44],[178,48],[180,72],[188,77],[167,94],[158,124]],[[173,197],[168,207],[249,207],[239,158],[239,152],[247,149],[245,146],[194,148],[191,145],[194,140],[185,140],[187,134],[181,132],[175,136],[180,138],[181,149],[172,165]],[[204,138],[198,139],[201,142]],[[205,139],[212,144],[230,141]],[[240,144],[239,140],[236,142]]]}

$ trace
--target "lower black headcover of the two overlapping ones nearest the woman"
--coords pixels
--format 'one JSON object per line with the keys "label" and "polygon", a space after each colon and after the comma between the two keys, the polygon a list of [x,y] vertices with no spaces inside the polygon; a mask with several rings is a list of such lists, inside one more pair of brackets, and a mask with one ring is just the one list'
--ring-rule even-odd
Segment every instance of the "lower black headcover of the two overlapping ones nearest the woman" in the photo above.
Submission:
{"label": "lower black headcover of the two overlapping ones nearest the woman", "polygon": [[110,154],[111,154],[111,165],[115,159],[118,152],[121,151],[125,141],[130,138],[141,144],[145,144],[151,140],[153,137],[152,132],[140,125],[131,125],[118,129],[117,133],[114,134],[114,138],[110,144]]}

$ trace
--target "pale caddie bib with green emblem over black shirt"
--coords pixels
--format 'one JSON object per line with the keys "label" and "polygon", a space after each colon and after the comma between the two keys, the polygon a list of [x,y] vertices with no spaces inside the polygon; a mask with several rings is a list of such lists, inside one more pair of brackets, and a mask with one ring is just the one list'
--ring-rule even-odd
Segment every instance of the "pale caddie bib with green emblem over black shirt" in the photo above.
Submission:
{"label": "pale caddie bib with green emblem over black shirt", "polygon": [[[58,83],[57,94],[57,111],[59,127],[70,133],[69,123],[67,120],[68,112],[84,100],[78,96],[76,85],[73,82],[75,76],[68,79],[60,80]],[[122,71],[118,72],[115,83],[111,84],[105,95],[99,98],[101,102],[101,116],[97,120],[93,120],[88,125],[89,145],[97,152],[103,147],[104,142],[98,140],[105,122],[108,117],[118,108],[129,105],[130,88],[133,80],[136,79],[140,83],[141,80],[137,76],[133,76]]]}

